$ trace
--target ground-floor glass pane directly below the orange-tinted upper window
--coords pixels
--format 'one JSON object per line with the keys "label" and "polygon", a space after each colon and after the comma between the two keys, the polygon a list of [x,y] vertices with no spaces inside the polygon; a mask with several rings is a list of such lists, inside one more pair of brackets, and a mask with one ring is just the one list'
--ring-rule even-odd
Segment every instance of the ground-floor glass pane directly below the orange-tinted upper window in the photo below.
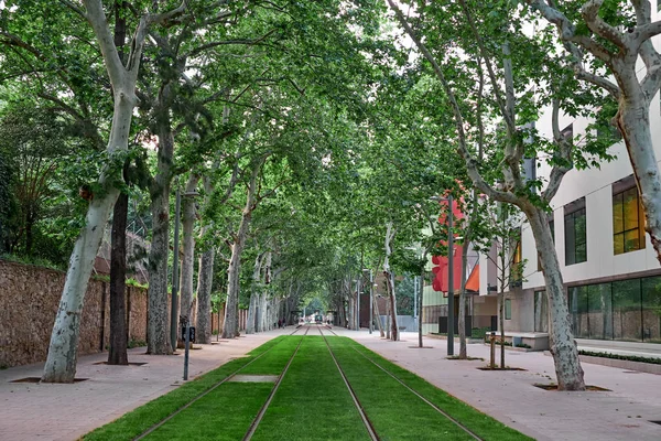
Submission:
{"label": "ground-floor glass pane directly below the orange-tinted upper window", "polygon": [[642,340],[640,279],[613,282],[613,337]]}

